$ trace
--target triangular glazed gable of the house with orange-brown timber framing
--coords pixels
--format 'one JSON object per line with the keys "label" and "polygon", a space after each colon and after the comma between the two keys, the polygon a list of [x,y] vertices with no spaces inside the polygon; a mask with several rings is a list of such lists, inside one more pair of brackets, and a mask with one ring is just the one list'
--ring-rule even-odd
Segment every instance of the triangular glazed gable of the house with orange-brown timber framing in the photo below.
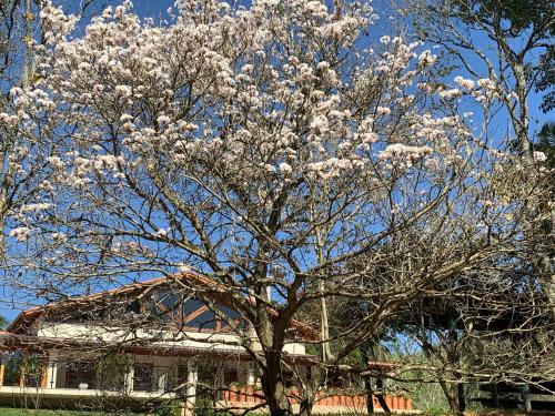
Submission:
{"label": "triangular glazed gable of the house with orange-brown timber framing", "polygon": [[[205,306],[201,306],[202,302],[191,296],[193,291],[199,290],[203,291],[206,300],[213,300],[208,308],[211,311],[201,311],[191,317],[200,307]],[[244,328],[246,322],[240,318],[241,315],[232,304],[233,300],[225,286],[204,275],[182,272],[90,296],[37,306],[20,313],[7,329],[12,334],[29,334],[37,327],[39,318],[59,322],[111,319],[115,324],[122,324],[127,318],[131,322],[137,318],[167,323],[174,328],[178,324],[178,328],[196,332],[228,332],[230,327],[226,321],[231,319]],[[219,311],[218,314],[215,311]],[[269,313],[271,316],[279,314],[273,308]],[[185,323],[191,325],[188,327]],[[291,321],[287,332],[291,339],[319,339],[316,331],[296,319]]]}

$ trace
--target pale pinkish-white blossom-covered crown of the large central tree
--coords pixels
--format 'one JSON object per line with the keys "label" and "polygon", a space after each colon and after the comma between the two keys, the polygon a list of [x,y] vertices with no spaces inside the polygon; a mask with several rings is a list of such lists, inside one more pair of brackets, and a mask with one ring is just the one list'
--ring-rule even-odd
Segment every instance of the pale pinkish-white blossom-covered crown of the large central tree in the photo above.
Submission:
{"label": "pale pinkish-white blossom-covered crown of the large central tree", "polygon": [[[38,50],[42,79],[12,92],[14,114],[0,114],[0,122],[60,143],[44,158],[51,177],[41,183],[43,195],[73,192],[90,210],[101,195],[104,211],[125,217],[121,223],[147,207],[137,222],[150,221],[157,206],[161,217],[181,210],[189,219],[199,204],[219,213],[206,223],[236,226],[273,213],[291,190],[300,197],[371,184],[379,195],[471,172],[464,169],[484,148],[450,105],[464,94],[490,99],[494,80],[457,77],[451,87],[431,87],[430,50],[402,37],[361,47],[375,16],[364,3],[345,9],[190,0],[157,26],[127,2],[72,37],[74,18],[49,4],[41,14],[48,43]],[[431,95],[447,111],[422,110]],[[18,215],[50,209],[40,199],[33,204]],[[23,241],[30,229],[18,220],[12,236]],[[174,222],[158,222],[141,232],[171,239]],[[118,250],[138,250],[128,243]]]}

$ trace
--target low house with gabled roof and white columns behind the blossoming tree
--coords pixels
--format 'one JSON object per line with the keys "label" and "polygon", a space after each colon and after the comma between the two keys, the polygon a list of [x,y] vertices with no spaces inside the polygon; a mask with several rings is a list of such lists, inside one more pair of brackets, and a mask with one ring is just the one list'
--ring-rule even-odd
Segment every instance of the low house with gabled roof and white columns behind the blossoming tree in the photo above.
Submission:
{"label": "low house with gabled roof and white columns behind the blossoming tree", "polygon": [[[192,272],[33,307],[0,333],[0,403],[148,407],[180,402],[186,413],[208,397],[220,407],[252,406],[263,394],[252,356],[232,326],[252,334],[225,287]],[[317,357],[307,354],[305,342],[315,339],[313,328],[292,322],[284,347],[287,383],[293,371],[310,376]],[[289,387],[296,404],[295,387]],[[404,398],[389,399],[394,408],[411,406]],[[337,412],[364,400],[359,394],[323,392],[317,405]]]}

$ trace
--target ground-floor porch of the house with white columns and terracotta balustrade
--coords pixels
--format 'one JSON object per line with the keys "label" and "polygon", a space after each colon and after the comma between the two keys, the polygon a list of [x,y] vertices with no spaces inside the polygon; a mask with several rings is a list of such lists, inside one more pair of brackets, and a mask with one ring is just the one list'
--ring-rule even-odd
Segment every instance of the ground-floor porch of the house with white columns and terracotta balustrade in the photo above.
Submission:
{"label": "ground-floor porch of the house with white columns and terracotta balustrade", "polygon": [[[223,357],[222,357],[223,358]],[[190,414],[196,400],[209,400],[216,408],[242,409],[261,405],[263,392],[252,364],[241,359],[201,359],[118,354],[101,358],[82,353],[50,352],[47,356],[4,355],[0,364],[0,402],[30,398],[68,407],[99,403],[133,404],[183,403]],[[306,371],[306,368],[303,368]],[[299,408],[301,394],[289,385],[287,396]],[[380,409],[376,398],[374,408]],[[412,402],[402,396],[385,396],[393,412],[412,412]],[[354,389],[320,392],[314,413],[364,412],[366,397]],[[261,410],[263,408],[261,407]]]}

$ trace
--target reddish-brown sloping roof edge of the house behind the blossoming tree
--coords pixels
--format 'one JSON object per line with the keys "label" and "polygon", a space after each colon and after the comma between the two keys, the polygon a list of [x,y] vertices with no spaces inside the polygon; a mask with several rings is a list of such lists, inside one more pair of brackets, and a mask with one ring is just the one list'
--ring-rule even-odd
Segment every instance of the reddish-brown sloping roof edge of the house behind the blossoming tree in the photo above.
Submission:
{"label": "reddish-brown sloping roof edge of the house behind the blossoming tree", "polygon": [[[162,286],[171,282],[180,282],[181,284],[186,284],[191,288],[205,290],[211,293],[212,296],[218,296],[219,298],[225,301],[230,300],[229,288],[214,280],[204,276],[196,272],[181,272],[170,276],[162,276],[144,282],[131,283],[122,285],[118,288],[110,291],[100,292],[89,296],[78,296],[71,297],[64,301],[51,302],[42,306],[34,306],[29,310],[21,312],[16,319],[7,327],[7,332],[12,334],[20,328],[28,327],[34,319],[40,316],[44,316],[50,312],[57,312],[61,310],[67,310],[68,307],[83,306],[97,301],[102,301],[105,298],[111,298],[113,296],[120,296],[124,294],[133,294],[139,292],[144,292],[151,287]],[[278,316],[279,312],[274,308],[269,310],[270,314]],[[299,332],[304,338],[310,341],[317,341],[319,334],[311,326],[297,321],[292,319],[291,326]]]}

